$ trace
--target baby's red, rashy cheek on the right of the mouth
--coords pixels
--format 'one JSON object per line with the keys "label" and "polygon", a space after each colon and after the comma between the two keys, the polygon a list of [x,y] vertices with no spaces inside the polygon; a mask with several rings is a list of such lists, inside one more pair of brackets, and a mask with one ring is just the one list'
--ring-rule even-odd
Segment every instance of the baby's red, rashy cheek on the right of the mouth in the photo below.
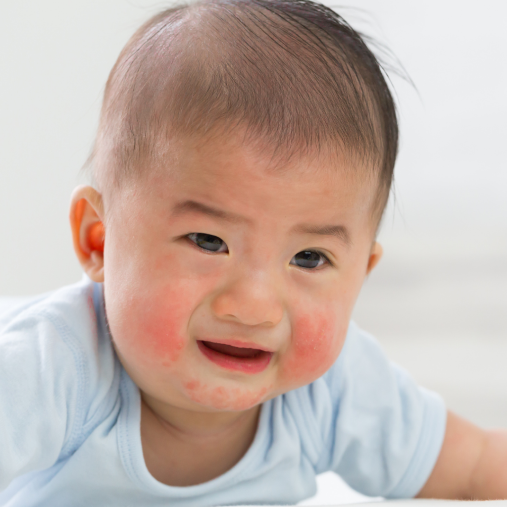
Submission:
{"label": "baby's red, rashy cheek on the right of the mouth", "polygon": [[348,320],[336,310],[297,317],[291,347],[281,364],[285,387],[308,384],[329,370],[342,349],[347,328]]}

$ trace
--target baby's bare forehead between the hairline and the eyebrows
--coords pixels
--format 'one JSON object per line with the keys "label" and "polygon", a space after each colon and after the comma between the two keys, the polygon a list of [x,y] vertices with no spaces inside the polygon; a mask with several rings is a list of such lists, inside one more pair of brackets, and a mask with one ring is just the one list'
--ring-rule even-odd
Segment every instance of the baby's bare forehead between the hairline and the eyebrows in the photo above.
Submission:
{"label": "baby's bare forehead between the hairline and the eyebrows", "polygon": [[370,173],[339,149],[287,155],[244,132],[215,133],[173,138],[156,167],[138,172],[135,186],[148,207],[196,201],[264,223],[370,224]]}

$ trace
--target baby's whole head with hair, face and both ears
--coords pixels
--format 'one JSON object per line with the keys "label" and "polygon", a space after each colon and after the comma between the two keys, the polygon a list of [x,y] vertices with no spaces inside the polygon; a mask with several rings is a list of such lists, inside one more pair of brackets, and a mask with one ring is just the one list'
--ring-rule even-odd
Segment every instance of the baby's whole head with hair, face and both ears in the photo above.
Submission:
{"label": "baby's whole head with hair, face and both ears", "polygon": [[327,8],[213,0],[141,27],[71,223],[144,397],[245,410],[329,369],[381,255],[396,148],[379,64]]}

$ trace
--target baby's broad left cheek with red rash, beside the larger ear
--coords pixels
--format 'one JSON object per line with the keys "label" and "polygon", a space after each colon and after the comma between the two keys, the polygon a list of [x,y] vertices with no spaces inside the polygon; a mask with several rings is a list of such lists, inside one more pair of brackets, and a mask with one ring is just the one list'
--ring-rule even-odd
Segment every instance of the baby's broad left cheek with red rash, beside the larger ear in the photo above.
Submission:
{"label": "baby's broad left cheek with red rash, beside the larger ear", "polygon": [[132,253],[120,239],[108,250],[104,283],[115,345],[131,367],[168,367],[186,349],[190,318],[220,273],[199,270],[202,263],[180,245],[162,248],[144,238]]}

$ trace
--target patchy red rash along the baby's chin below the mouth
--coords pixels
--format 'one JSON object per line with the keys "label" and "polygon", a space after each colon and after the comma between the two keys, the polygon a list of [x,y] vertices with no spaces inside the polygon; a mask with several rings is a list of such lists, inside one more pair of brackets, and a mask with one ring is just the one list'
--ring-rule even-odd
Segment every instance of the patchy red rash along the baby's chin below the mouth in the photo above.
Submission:
{"label": "patchy red rash along the baby's chin below the mouth", "polygon": [[263,401],[268,387],[250,391],[246,387],[208,387],[198,380],[190,380],[184,385],[192,401],[218,410],[247,410]]}

